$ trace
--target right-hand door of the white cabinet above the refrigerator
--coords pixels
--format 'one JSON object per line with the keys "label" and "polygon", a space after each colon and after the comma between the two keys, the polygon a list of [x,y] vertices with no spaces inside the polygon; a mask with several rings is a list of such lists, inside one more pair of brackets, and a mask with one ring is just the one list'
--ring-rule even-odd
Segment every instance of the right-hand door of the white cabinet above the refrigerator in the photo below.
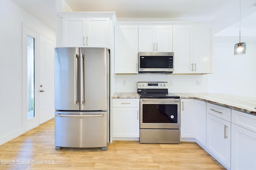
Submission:
{"label": "right-hand door of the white cabinet above the refrigerator", "polygon": [[110,47],[109,18],[86,18],[86,46]]}

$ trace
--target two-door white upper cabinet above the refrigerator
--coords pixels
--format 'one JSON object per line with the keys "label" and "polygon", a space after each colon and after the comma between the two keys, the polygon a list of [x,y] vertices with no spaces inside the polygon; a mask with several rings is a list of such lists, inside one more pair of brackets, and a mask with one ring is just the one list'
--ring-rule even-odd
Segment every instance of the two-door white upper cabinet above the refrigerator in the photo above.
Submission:
{"label": "two-door white upper cabinet above the refrigerator", "polygon": [[62,47],[110,47],[110,18],[62,18]]}

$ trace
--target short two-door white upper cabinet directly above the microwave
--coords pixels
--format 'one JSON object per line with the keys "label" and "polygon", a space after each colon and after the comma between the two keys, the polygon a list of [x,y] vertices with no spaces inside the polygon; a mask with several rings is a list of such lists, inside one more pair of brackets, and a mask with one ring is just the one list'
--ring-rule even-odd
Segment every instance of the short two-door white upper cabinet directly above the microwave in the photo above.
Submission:
{"label": "short two-door white upper cabinet directly above the microwave", "polygon": [[172,52],[172,25],[140,25],[138,52]]}

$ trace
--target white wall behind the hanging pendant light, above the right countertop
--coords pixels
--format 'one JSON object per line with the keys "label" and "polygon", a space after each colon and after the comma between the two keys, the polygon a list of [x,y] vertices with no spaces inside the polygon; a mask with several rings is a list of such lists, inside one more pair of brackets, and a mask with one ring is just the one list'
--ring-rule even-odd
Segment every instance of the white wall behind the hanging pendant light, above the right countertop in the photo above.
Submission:
{"label": "white wall behind the hanging pendant light, above the right countertop", "polygon": [[215,68],[208,75],[208,92],[256,97],[256,43],[246,42],[246,54],[235,56],[238,41],[237,37],[237,41],[225,42],[224,37],[215,42]]}

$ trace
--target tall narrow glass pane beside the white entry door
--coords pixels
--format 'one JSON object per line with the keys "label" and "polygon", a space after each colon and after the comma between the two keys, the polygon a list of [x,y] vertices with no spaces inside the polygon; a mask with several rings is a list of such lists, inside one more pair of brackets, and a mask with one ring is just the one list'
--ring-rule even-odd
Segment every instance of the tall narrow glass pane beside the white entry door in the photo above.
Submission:
{"label": "tall narrow glass pane beside the white entry door", "polygon": [[34,48],[34,38],[27,36],[27,64],[28,64],[28,119],[35,117],[34,112],[34,57],[35,57],[35,48]]}

